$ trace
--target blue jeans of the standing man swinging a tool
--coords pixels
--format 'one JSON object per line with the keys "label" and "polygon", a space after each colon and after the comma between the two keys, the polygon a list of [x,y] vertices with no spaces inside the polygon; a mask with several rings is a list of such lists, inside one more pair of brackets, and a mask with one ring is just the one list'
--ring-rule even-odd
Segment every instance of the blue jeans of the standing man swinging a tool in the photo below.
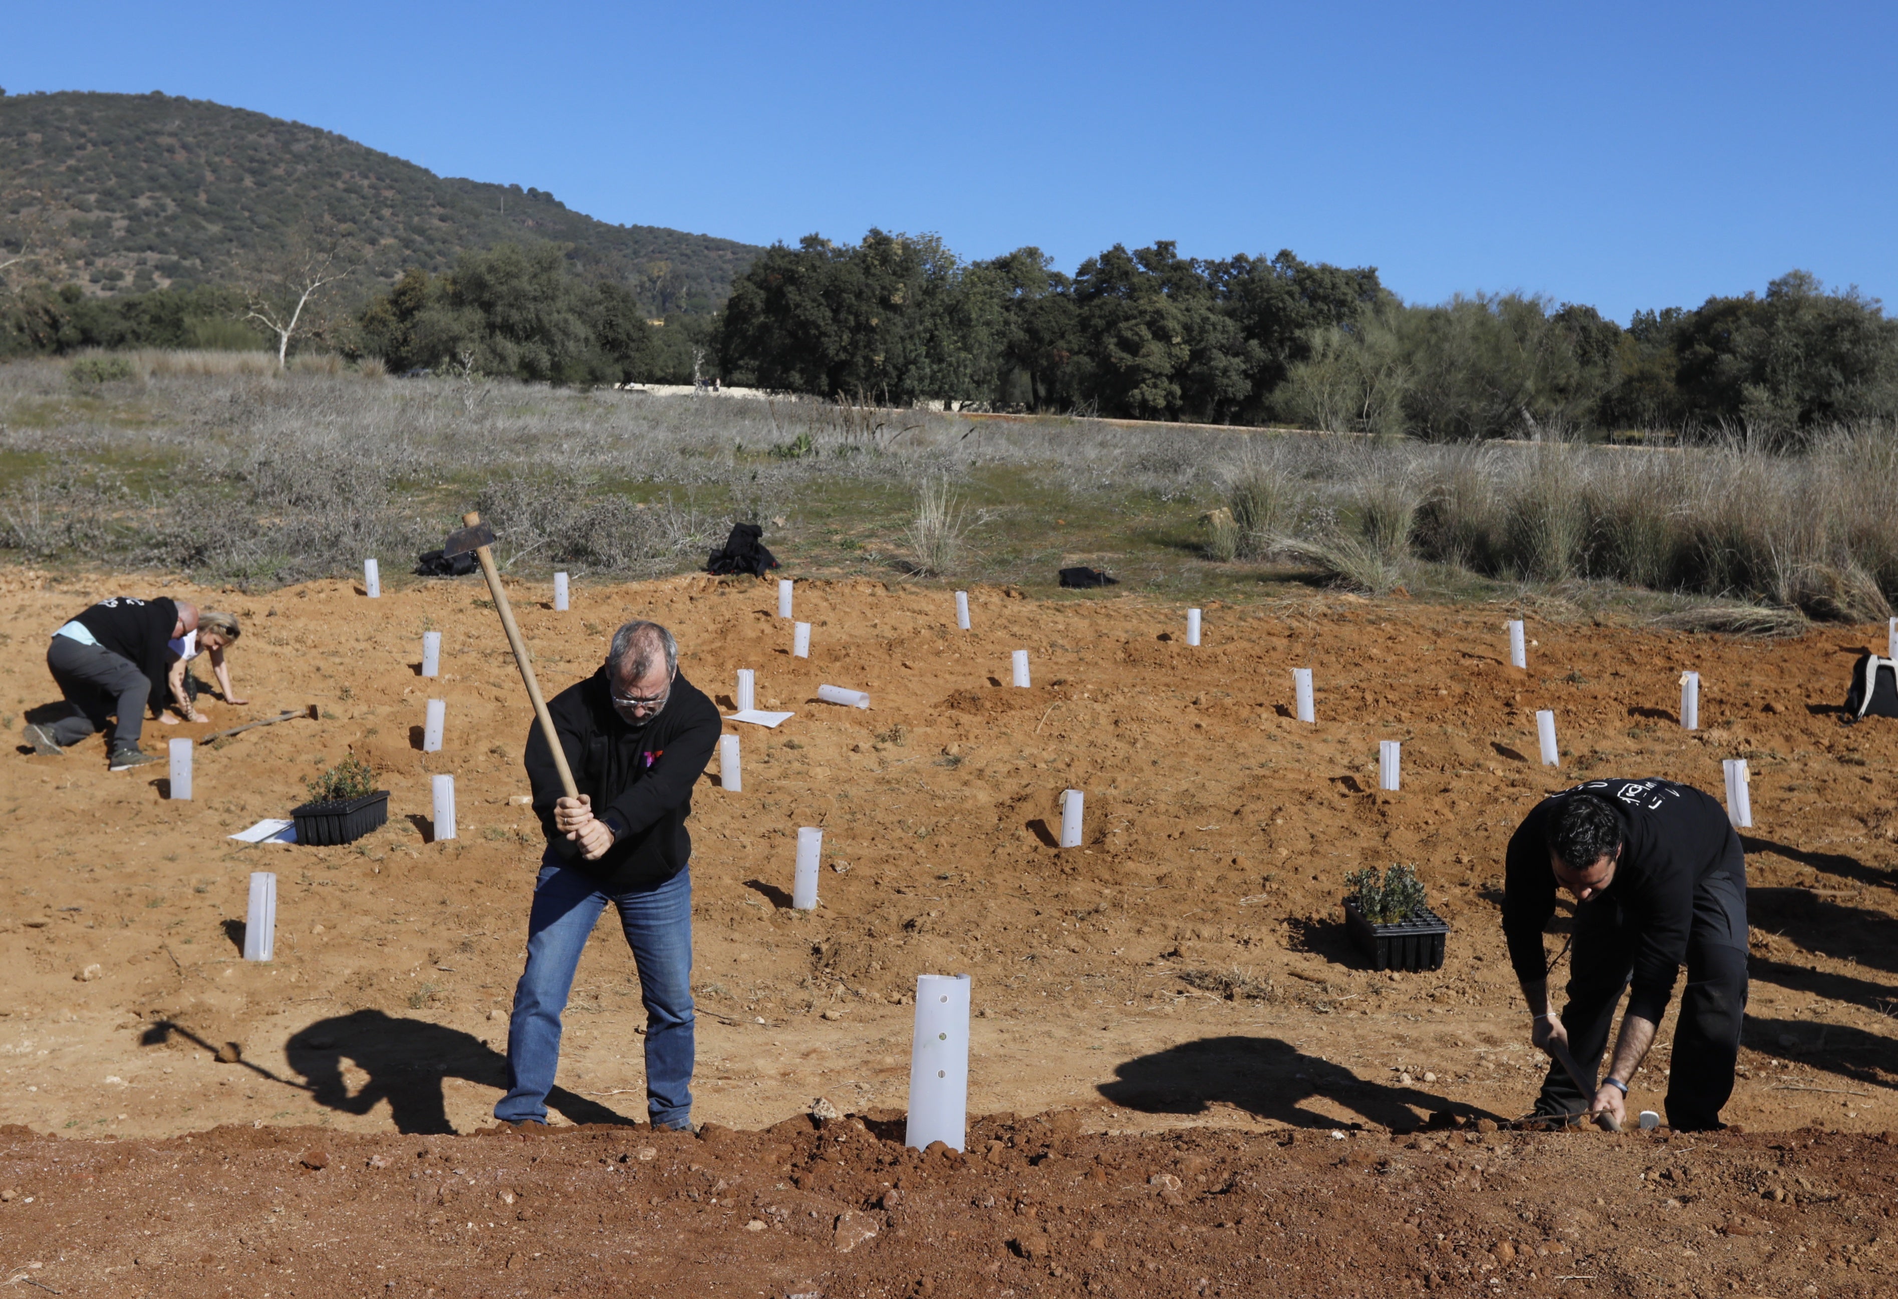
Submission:
{"label": "blue jeans of the standing man swinging a tool", "polygon": [[493,1117],[547,1122],[560,1064],[560,1012],[600,912],[619,908],[645,1003],[645,1109],[653,1124],[683,1126],[693,1113],[693,879],[691,870],[636,893],[607,896],[586,872],[543,858],[528,913],[528,967],[514,986],[507,1027],[507,1096]]}

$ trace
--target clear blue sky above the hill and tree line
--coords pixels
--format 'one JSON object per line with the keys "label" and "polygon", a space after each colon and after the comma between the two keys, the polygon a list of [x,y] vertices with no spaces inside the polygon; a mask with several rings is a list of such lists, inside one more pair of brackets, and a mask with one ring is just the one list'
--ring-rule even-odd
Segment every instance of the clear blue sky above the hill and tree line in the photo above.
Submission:
{"label": "clear blue sky above the hill and tree line", "polygon": [[[84,17],[82,17],[84,13]],[[1378,266],[1628,319],[1898,298],[1890,4],[15,0],[0,85],[214,99],[613,222]],[[1898,306],[1898,302],[1894,302]]]}

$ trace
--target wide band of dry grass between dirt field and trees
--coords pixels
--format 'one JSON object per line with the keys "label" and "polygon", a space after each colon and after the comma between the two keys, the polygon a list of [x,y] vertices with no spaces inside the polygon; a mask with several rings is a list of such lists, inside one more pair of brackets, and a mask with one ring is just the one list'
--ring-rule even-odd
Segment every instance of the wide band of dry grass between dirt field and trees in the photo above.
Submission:
{"label": "wide band of dry grass between dirt field and trees", "polygon": [[[520,384],[469,401],[452,378],[323,357],[279,374],[270,353],[127,355],[129,382],[0,365],[0,547],[279,583],[437,545],[480,501],[516,572],[638,575],[700,562],[733,518],[822,501],[860,562],[1004,581],[1067,562],[1080,537],[1050,524],[1091,511],[1103,549],[1141,534],[1234,581],[1289,560],[1367,593],[1456,574],[1640,587],[1691,598],[1697,625],[1769,631],[1788,610],[1879,619],[1898,596],[1890,425],[1799,454],[1433,446]],[[977,507],[1014,549],[968,551]]]}

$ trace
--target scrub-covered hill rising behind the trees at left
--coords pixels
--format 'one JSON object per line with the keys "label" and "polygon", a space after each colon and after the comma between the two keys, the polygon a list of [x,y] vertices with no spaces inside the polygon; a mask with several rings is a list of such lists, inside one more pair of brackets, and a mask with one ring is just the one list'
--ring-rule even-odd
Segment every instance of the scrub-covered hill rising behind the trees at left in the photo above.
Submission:
{"label": "scrub-covered hill rising behind the trees at left", "polygon": [[[89,292],[218,283],[330,216],[389,241],[374,273],[444,272],[463,249],[552,239],[575,270],[655,313],[723,304],[763,249],[664,226],[609,226],[552,194],[457,180],[332,131],[195,99],[61,91],[0,99],[0,247],[28,239],[46,279]],[[0,253],[4,260],[4,253]]]}

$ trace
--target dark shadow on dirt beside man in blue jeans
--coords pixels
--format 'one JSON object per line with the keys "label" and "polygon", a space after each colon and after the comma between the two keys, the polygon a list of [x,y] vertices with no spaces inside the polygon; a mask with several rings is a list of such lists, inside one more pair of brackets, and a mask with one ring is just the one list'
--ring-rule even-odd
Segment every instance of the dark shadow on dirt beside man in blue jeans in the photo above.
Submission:
{"label": "dark shadow on dirt beside man in blue jeans", "polygon": [[[389,1101],[397,1132],[452,1134],[444,1082],[463,1079],[507,1086],[507,1056],[488,1043],[427,1020],[381,1010],[355,1010],[317,1020],[283,1046],[290,1069],[304,1075],[311,1100],[345,1115],[366,1115]],[[368,1075],[349,1090],[344,1062]],[[636,1120],[600,1101],[556,1086],[547,1103],[573,1122],[632,1126]]]}

